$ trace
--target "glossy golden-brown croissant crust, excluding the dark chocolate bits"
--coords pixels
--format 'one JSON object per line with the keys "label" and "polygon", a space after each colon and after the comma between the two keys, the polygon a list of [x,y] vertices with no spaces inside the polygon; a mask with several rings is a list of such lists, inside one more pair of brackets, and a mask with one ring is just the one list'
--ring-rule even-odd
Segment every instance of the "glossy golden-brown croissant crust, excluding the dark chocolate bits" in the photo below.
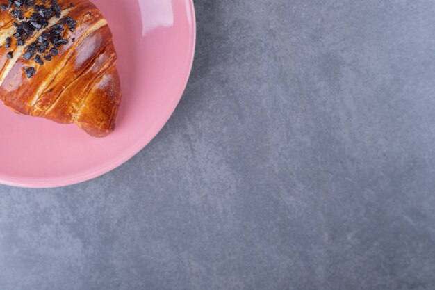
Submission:
{"label": "glossy golden-brown croissant crust, excluding the dark chocolate bits", "polygon": [[[58,55],[44,65],[22,57],[26,46],[44,29],[35,31],[24,46],[0,49],[1,101],[24,115],[74,123],[91,136],[107,136],[115,129],[122,97],[112,34],[106,19],[90,1],[58,0],[58,4],[62,8],[60,19],[69,16],[77,22],[74,31],[63,31],[62,37],[69,43],[59,47]],[[60,19],[53,17],[49,26],[60,23]],[[1,31],[10,29],[11,22],[5,17],[0,23],[1,45]],[[9,51],[13,51],[13,59],[6,57]],[[26,76],[27,67],[35,67],[31,78]]]}

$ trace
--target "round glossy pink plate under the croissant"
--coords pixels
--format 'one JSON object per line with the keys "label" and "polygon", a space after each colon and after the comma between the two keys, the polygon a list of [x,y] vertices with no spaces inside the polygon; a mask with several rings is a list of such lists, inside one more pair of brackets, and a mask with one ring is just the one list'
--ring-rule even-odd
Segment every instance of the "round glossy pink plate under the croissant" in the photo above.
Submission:
{"label": "round glossy pink plate under the croissant", "polygon": [[177,106],[195,51],[192,0],[93,1],[118,54],[123,99],[115,132],[92,138],[0,104],[0,183],[49,188],[103,175],[142,150]]}

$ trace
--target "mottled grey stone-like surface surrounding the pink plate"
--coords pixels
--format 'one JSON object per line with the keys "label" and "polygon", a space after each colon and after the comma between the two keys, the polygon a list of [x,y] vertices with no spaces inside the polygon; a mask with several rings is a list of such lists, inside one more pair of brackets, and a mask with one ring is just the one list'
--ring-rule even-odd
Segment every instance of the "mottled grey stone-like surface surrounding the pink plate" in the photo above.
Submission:
{"label": "mottled grey stone-like surface surrounding the pink plate", "polygon": [[0,186],[0,289],[435,289],[435,1],[195,4],[145,150]]}

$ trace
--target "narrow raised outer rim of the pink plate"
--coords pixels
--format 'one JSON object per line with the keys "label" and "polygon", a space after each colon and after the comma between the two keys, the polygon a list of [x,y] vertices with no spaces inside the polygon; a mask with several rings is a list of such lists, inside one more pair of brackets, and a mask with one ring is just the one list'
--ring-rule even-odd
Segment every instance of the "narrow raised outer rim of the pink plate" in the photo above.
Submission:
{"label": "narrow raised outer rim of the pink plate", "polygon": [[[132,147],[132,149],[128,152],[128,154],[122,154],[120,155],[120,158],[118,160],[112,161],[107,164],[103,164],[100,168],[95,168],[95,170],[92,170],[90,172],[85,172],[83,174],[78,174],[77,176],[68,175],[65,177],[58,177],[54,179],[53,181],[50,181],[49,184],[47,184],[47,180],[41,180],[38,178],[31,178],[31,177],[19,177],[20,180],[18,180],[16,177],[8,176],[8,175],[2,175],[0,174],[0,184],[6,185],[6,186],[15,186],[20,188],[60,188],[64,186],[71,186],[74,184],[81,184],[83,182],[88,182],[92,179],[95,179],[97,177],[101,177],[103,175],[106,175],[108,172],[111,172],[115,170],[116,168],[122,166],[124,163],[132,159],[134,156],[136,156],[140,151],[142,151],[149,143],[151,143],[154,138],[160,133],[160,131],[165,127],[167,122],[170,120],[172,115],[174,114],[175,109],[179,105],[179,102],[181,101],[181,97],[183,97],[183,93],[186,90],[186,87],[188,85],[188,81],[190,79],[190,75],[192,74],[192,67],[193,67],[193,61],[195,60],[195,52],[196,52],[196,45],[197,45],[197,18],[196,18],[196,11],[195,11],[195,4],[193,3],[193,0],[186,0],[189,3],[189,9],[190,9],[190,17],[192,22],[192,53],[190,54],[190,62],[188,63],[188,73],[183,77],[183,85],[180,86],[178,95],[179,97],[174,100],[174,105],[171,106],[169,112],[165,117],[163,118],[163,122],[160,122],[156,124],[156,126],[151,129],[151,134],[149,134],[147,137],[144,137],[143,140],[140,140],[138,142],[138,145],[136,147]],[[23,180],[26,178],[25,180]]]}

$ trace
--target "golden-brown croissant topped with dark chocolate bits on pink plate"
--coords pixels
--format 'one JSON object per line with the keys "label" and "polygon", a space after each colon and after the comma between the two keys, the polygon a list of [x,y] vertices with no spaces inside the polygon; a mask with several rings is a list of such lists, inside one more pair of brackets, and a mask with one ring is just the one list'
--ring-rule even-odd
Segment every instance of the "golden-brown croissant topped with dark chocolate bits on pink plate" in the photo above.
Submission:
{"label": "golden-brown croissant topped with dark chocolate bits on pink plate", "polygon": [[112,33],[88,0],[9,0],[0,5],[0,98],[16,113],[115,129],[122,92]]}

